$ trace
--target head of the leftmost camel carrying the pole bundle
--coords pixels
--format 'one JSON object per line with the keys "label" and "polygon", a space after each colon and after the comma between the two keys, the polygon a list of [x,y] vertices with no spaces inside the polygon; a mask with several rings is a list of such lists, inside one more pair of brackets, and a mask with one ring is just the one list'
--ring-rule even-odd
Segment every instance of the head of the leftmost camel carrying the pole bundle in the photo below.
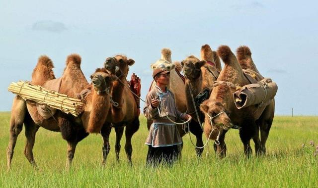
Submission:
{"label": "head of the leftmost camel carrying the pole bundle", "polygon": [[90,79],[97,94],[102,92],[109,94],[113,81],[117,80],[117,77],[110,74],[105,68],[97,68],[95,73],[90,76]]}

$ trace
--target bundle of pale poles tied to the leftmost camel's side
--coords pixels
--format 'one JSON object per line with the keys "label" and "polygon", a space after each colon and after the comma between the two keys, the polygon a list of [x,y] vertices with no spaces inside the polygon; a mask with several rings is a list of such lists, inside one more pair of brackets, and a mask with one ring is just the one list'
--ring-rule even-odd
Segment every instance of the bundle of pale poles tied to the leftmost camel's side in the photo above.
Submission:
{"label": "bundle of pale poles tied to the leftmost camel's side", "polygon": [[20,95],[24,100],[28,99],[39,104],[45,104],[64,113],[71,113],[75,117],[78,117],[84,111],[84,104],[80,99],[46,90],[27,81],[12,82],[8,87],[8,91]]}

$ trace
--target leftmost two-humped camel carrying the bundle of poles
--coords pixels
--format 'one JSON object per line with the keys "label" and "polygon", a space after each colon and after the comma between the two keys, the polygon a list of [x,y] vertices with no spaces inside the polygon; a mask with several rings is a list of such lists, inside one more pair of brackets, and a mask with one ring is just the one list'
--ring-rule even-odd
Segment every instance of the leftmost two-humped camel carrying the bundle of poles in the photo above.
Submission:
{"label": "leftmost two-humped camel carrying the bundle of poles", "polygon": [[[70,169],[76,145],[84,139],[90,131],[98,131],[103,125],[104,117],[107,116],[110,107],[109,92],[104,92],[109,88],[111,90],[112,81],[115,79],[105,70],[97,69],[92,75],[93,88],[87,83],[82,71],[80,70],[80,56],[77,54],[69,55],[66,61],[62,81],[60,81],[59,93],[68,94],[74,97],[81,90],[87,88],[85,100],[85,111],[76,118],[72,115],[57,110],[49,119],[44,119],[37,111],[37,104],[30,100],[24,100],[19,95],[13,99],[11,119],[10,119],[10,140],[7,152],[7,168],[10,169],[13,150],[22,126],[25,127],[26,145],[24,154],[31,165],[35,168],[37,164],[33,157],[33,146],[35,134],[40,127],[54,132],[61,132],[62,138],[68,143],[66,168]],[[53,62],[47,56],[40,56],[36,67],[32,73],[32,84],[40,85],[45,88],[47,83],[59,82],[55,79]],[[59,83],[58,83],[59,84]]]}

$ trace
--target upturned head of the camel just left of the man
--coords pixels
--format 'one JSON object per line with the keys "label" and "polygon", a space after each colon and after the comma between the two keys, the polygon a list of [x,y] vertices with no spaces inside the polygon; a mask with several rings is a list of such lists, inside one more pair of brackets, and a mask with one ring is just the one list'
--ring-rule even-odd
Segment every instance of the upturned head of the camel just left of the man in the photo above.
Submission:
{"label": "upturned head of the camel just left of the man", "polygon": [[111,74],[115,74],[118,78],[128,75],[129,67],[135,63],[133,59],[128,59],[125,55],[116,55],[106,58],[104,67]]}

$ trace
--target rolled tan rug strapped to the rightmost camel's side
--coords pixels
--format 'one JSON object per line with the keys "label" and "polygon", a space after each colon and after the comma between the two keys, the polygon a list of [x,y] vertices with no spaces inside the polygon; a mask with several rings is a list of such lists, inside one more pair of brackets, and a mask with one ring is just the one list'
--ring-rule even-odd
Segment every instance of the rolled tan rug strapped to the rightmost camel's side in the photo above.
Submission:
{"label": "rolled tan rug strapped to the rightmost camel's side", "polygon": [[266,103],[274,98],[277,93],[277,85],[270,78],[264,78],[256,84],[248,84],[233,94],[234,103],[238,109],[250,105]]}

